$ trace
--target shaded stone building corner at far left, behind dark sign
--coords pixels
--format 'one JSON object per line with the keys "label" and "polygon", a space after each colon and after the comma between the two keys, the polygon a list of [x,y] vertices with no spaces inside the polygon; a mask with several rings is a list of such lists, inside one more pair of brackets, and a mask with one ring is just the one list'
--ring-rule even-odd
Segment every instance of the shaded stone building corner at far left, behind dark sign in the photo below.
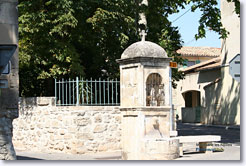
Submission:
{"label": "shaded stone building corner at far left, behind dark sign", "polygon": [[[0,1],[0,45],[18,45],[18,0]],[[0,89],[0,159],[15,160],[12,144],[12,121],[18,117],[19,76],[18,50],[10,60],[10,73],[0,75],[7,88]]]}

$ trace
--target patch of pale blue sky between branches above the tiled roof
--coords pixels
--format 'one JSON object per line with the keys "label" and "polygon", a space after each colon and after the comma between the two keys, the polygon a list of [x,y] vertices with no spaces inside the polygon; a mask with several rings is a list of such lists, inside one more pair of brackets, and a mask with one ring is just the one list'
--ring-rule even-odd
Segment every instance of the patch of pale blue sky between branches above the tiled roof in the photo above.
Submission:
{"label": "patch of pale blue sky between branches above the tiled roof", "polygon": [[[197,9],[195,12],[188,11],[186,13],[190,7],[191,5],[188,5],[185,9],[180,9],[179,13],[169,16],[169,20],[174,21],[185,13],[183,16],[173,22],[173,26],[177,26],[179,28],[181,38],[184,41],[183,45],[220,48],[221,41],[219,39],[219,35],[208,29],[206,29],[206,38],[195,40],[195,34],[197,33],[201,12]],[[220,7],[220,3],[218,4],[218,7]]]}

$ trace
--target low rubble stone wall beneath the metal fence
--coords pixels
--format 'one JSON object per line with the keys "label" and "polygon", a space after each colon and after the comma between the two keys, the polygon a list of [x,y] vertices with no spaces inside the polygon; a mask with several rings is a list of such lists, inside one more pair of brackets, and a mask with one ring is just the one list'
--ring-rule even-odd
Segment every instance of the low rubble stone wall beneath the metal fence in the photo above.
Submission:
{"label": "low rubble stone wall beneath the metal fence", "polygon": [[54,105],[54,98],[21,98],[13,122],[18,150],[84,154],[121,149],[121,115],[114,106]]}

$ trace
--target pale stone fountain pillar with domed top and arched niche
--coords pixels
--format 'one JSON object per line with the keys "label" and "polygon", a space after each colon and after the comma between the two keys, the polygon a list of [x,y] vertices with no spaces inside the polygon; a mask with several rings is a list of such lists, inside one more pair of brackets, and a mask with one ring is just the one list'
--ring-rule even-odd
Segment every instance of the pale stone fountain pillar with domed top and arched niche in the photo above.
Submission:
{"label": "pale stone fountain pillar with domed top and arched niche", "polygon": [[170,131],[169,61],[163,48],[144,40],[129,46],[117,60],[124,160],[179,157],[179,140]]}

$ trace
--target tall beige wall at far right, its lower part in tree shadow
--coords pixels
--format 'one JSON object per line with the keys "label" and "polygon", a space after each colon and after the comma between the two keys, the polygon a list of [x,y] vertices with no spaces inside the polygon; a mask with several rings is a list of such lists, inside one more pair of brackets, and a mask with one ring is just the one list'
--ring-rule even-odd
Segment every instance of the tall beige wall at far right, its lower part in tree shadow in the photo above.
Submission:
{"label": "tall beige wall at far right, its lower part in tree shadow", "polygon": [[221,0],[223,26],[229,31],[228,38],[222,40],[221,81],[206,90],[204,123],[240,124],[240,83],[229,75],[229,61],[240,54],[240,18],[234,12],[234,3]]}

